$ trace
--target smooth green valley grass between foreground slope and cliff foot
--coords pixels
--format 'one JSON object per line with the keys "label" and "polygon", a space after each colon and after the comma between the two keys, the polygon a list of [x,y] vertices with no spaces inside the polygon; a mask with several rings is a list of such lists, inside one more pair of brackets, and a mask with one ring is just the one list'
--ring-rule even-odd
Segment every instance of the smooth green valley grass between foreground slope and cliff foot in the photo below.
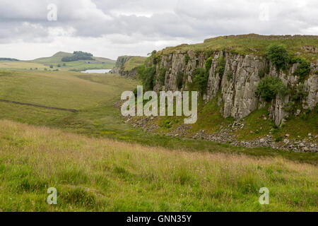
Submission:
{"label": "smooth green valley grass between foreground slope and cliff foot", "polygon": [[[315,153],[293,153],[270,148],[249,149],[209,141],[171,138],[146,133],[141,129],[124,124],[119,109],[113,104],[120,100],[120,95],[124,90],[133,90],[139,82],[120,76],[66,71],[2,71],[0,79],[0,99],[78,110],[77,113],[62,112],[0,102],[0,119],[11,119],[87,136],[114,138],[153,147],[246,153],[253,156],[283,156],[290,160],[317,164],[317,154]],[[205,109],[209,107],[214,109],[216,103],[207,105]],[[209,114],[212,119],[208,119],[206,114]],[[202,114],[200,112],[199,120],[206,121],[203,121],[202,124],[198,122],[197,129],[204,124],[213,127],[220,122],[221,117],[218,113]]]}

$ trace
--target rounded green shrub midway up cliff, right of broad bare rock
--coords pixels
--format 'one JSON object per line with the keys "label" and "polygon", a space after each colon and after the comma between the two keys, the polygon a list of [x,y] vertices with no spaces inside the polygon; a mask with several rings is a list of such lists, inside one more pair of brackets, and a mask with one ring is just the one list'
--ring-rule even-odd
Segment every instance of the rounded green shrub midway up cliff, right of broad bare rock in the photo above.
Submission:
{"label": "rounded green shrub midway up cliff, right of broad bare rock", "polygon": [[260,95],[264,100],[269,102],[277,94],[280,94],[282,97],[287,95],[287,88],[280,78],[267,76],[261,79],[261,82],[257,85],[257,95]]}

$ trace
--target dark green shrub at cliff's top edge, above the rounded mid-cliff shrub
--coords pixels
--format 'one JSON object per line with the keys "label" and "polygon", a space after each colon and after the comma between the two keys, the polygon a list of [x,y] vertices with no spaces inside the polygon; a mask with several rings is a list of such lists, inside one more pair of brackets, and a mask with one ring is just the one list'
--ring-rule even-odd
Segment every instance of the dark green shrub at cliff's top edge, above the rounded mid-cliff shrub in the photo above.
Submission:
{"label": "dark green shrub at cliff's top edge, above the rounded mid-cliff shrub", "polygon": [[290,61],[287,49],[282,44],[271,44],[267,48],[266,57],[276,66],[277,71],[285,69]]}

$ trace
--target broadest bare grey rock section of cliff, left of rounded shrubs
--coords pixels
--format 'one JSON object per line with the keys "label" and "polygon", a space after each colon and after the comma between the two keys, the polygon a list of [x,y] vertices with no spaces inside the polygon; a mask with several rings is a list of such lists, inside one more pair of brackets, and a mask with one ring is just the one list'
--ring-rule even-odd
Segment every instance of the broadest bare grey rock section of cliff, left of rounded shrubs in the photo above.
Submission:
{"label": "broadest bare grey rock section of cliff, left of rounded shrubs", "polygon": [[242,119],[258,107],[259,98],[255,92],[260,81],[259,71],[264,70],[265,60],[250,55],[242,57],[225,53],[225,71],[220,75],[216,73],[216,68],[221,55],[218,53],[213,59],[208,77],[207,100],[220,91],[224,102],[223,116]]}

